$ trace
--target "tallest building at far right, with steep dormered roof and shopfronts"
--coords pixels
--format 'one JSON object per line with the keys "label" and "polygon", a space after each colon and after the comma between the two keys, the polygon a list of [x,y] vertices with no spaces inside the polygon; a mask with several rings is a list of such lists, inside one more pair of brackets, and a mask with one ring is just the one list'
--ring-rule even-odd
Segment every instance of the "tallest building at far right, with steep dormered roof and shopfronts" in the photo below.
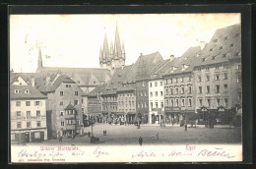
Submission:
{"label": "tallest building at far right, with steep dormered roof and shopfronts", "polygon": [[227,124],[242,101],[241,26],[217,29],[200,58],[194,69],[199,123],[214,115],[217,123]]}

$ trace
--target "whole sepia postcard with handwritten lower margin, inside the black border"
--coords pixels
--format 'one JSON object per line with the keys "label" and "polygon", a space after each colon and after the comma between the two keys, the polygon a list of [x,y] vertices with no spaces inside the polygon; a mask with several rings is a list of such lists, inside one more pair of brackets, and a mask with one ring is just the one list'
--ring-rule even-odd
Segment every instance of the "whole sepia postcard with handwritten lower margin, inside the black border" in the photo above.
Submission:
{"label": "whole sepia postcard with handwritten lower margin, inside the black border", "polygon": [[241,14],[9,17],[12,163],[242,161]]}

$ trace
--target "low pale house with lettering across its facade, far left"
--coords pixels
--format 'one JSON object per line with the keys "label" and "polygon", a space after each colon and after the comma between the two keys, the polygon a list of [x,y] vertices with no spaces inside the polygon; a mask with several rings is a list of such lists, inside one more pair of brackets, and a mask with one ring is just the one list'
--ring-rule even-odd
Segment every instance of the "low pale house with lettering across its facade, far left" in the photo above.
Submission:
{"label": "low pale house with lettering across its facade, far left", "polygon": [[46,98],[22,77],[12,79],[10,85],[11,141],[47,140]]}

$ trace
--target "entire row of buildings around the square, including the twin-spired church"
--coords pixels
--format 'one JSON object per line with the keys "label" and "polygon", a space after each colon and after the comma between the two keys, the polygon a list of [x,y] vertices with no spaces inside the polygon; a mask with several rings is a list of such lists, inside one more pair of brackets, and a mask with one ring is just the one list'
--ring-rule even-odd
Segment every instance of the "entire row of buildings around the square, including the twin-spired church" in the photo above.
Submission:
{"label": "entire row of buildings around the square, including the twin-spired church", "polygon": [[39,49],[36,73],[10,74],[11,140],[74,137],[92,121],[204,124],[214,114],[225,124],[241,106],[240,32],[221,28],[180,57],[141,54],[128,66],[118,28],[110,49],[104,36],[101,68],[44,67]]}

